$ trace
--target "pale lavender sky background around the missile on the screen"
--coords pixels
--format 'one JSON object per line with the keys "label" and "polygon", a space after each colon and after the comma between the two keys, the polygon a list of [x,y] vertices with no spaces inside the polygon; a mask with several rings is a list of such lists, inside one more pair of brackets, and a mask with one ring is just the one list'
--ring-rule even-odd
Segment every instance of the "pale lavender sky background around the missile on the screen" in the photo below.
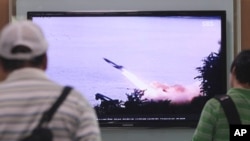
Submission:
{"label": "pale lavender sky background around the missile on the screen", "polygon": [[107,58],[145,83],[199,83],[196,67],[218,52],[219,19],[191,17],[34,18],[49,40],[47,74],[92,103],[95,94],[125,100],[135,86]]}

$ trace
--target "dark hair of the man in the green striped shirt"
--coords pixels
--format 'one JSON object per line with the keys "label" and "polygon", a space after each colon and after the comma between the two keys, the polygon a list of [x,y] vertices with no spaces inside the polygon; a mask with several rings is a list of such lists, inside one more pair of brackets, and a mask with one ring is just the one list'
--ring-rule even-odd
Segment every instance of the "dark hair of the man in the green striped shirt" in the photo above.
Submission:
{"label": "dark hair of the man in the green striped shirt", "polygon": [[230,71],[234,71],[240,83],[250,84],[250,50],[243,50],[235,57]]}

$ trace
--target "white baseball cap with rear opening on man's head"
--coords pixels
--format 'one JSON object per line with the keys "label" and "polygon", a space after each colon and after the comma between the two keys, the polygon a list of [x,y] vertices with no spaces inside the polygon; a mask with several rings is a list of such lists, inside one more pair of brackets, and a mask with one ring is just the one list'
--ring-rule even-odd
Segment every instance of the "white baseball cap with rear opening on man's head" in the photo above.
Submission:
{"label": "white baseball cap with rear opening on man's head", "polygon": [[[13,53],[16,46],[28,47],[30,52]],[[31,60],[44,54],[48,43],[41,28],[29,20],[16,21],[0,33],[0,56],[5,59]]]}

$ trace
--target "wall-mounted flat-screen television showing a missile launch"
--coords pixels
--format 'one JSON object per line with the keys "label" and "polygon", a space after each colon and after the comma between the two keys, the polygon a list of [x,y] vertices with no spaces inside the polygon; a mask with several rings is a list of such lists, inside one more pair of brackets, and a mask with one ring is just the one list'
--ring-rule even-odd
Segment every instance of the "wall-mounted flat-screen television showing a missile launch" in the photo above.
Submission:
{"label": "wall-mounted flat-screen television showing a missile launch", "polygon": [[47,74],[88,100],[102,127],[195,127],[227,90],[225,11],[29,11]]}

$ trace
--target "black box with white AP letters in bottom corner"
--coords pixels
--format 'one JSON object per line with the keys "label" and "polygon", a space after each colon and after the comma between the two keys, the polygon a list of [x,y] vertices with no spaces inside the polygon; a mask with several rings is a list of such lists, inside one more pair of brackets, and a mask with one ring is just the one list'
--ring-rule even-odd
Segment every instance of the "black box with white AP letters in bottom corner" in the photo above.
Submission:
{"label": "black box with white AP letters in bottom corner", "polygon": [[250,125],[230,125],[230,141],[249,141]]}

